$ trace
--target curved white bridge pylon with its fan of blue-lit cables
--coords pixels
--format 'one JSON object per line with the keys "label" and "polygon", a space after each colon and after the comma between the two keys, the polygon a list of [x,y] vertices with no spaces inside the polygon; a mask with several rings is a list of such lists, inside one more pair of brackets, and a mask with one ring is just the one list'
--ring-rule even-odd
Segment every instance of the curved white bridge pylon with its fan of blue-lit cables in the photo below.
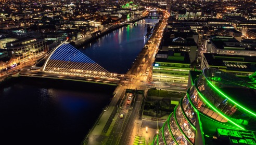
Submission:
{"label": "curved white bridge pylon with its fan of blue-lit cables", "polygon": [[108,72],[67,43],[62,43],[55,48],[42,68],[42,71],[52,74],[119,80],[116,77],[117,74]]}

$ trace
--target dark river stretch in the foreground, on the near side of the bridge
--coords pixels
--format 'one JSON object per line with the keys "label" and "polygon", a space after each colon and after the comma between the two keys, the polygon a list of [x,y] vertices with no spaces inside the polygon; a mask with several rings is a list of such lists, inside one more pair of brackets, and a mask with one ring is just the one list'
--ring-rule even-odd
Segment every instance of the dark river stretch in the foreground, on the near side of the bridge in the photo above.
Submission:
{"label": "dark river stretch in the foreground, on the near side of the bridge", "polygon": [[113,91],[109,85],[50,79],[1,84],[0,144],[14,135],[20,144],[80,144]]}

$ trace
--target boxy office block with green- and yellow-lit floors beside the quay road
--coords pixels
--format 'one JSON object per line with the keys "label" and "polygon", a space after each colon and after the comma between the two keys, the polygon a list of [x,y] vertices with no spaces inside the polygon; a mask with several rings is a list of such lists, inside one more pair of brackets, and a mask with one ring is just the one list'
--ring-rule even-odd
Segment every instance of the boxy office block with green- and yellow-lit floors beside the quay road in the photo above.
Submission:
{"label": "boxy office block with green- and yellow-lit floors beside the quay road", "polygon": [[158,51],[152,66],[153,81],[187,84],[190,69],[188,52]]}

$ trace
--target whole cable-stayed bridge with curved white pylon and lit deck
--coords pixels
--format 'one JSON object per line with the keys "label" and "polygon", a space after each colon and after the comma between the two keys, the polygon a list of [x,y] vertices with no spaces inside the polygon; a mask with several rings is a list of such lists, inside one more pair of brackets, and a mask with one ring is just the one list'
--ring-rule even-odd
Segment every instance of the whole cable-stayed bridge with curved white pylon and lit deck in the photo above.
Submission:
{"label": "whole cable-stayed bridge with curved white pylon and lit deck", "polygon": [[107,71],[67,42],[63,42],[49,53],[42,67],[20,72],[20,76],[107,84],[117,84],[120,78],[124,77]]}

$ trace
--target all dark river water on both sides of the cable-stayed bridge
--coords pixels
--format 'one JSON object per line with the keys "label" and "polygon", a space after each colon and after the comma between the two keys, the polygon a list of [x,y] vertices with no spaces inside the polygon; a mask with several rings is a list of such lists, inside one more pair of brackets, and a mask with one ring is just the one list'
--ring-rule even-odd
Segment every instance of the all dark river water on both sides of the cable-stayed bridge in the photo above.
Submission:
{"label": "all dark river water on both sides of the cable-stayed bridge", "polygon": [[[146,33],[144,24],[129,25],[78,49],[109,72],[125,74],[145,45]],[[115,88],[57,79],[10,79],[0,84],[0,144],[80,144]]]}

